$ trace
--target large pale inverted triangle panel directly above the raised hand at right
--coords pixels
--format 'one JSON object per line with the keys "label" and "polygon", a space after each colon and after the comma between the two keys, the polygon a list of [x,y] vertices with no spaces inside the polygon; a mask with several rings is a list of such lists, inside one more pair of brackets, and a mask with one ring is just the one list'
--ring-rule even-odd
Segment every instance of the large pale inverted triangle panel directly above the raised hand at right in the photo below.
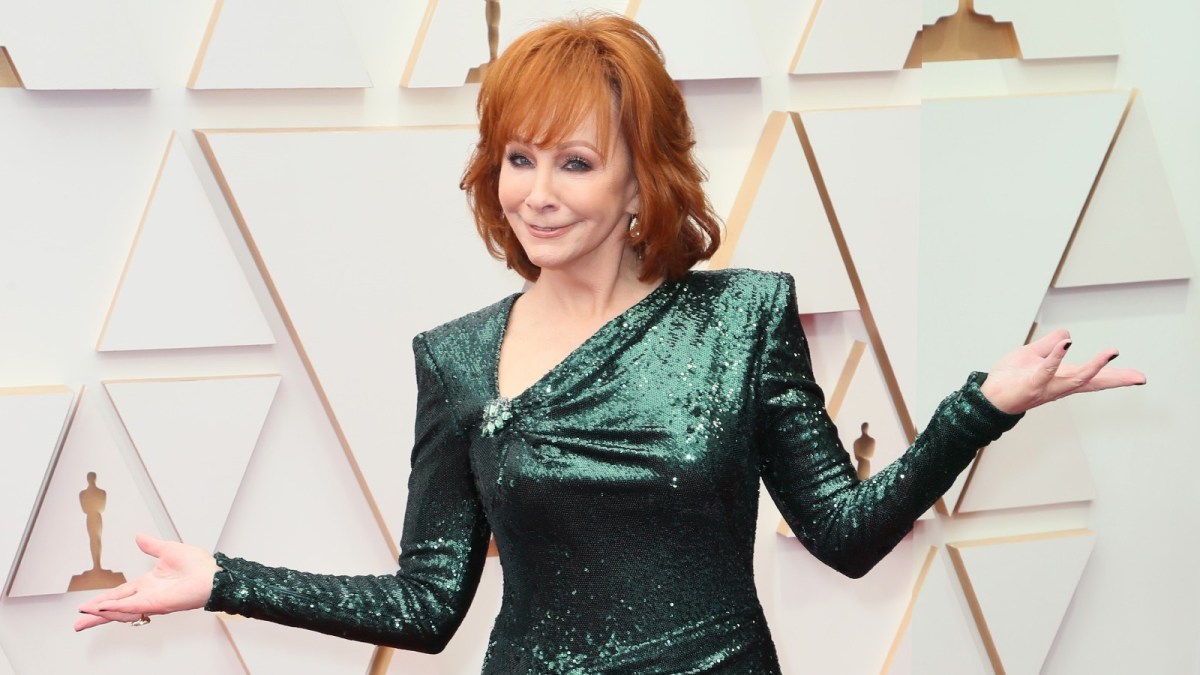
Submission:
{"label": "large pale inverted triangle panel directly above the raised hand at right", "polygon": [[1127,98],[922,106],[918,425],[967,374],[1025,342]]}

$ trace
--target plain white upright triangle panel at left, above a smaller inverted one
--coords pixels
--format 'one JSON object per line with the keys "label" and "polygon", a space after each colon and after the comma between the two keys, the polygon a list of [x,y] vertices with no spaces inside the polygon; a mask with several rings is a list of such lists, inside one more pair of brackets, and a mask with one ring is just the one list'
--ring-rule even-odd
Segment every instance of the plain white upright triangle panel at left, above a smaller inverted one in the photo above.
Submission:
{"label": "plain white upright triangle panel at left, above a smaller inverted one", "polygon": [[274,342],[200,179],[172,136],[97,348]]}

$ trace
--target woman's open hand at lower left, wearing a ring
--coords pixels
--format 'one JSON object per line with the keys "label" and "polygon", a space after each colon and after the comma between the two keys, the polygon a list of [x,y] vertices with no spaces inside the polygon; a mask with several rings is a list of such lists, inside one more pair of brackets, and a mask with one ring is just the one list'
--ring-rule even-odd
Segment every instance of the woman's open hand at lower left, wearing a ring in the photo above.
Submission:
{"label": "woman's open hand at lower left, wearing a ring", "polygon": [[138,534],[138,548],[158,558],[154,569],[133,581],[121,584],[79,605],[74,629],[84,631],[101,623],[130,623],[145,616],[199,609],[209,602],[212,577],[221,571],[209,551]]}

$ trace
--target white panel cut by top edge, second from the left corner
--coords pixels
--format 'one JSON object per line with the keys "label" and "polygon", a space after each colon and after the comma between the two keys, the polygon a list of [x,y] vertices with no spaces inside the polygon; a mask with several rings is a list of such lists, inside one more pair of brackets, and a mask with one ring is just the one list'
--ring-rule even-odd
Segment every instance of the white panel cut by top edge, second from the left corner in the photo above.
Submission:
{"label": "white panel cut by top edge, second from the left corner", "polygon": [[[253,44],[253,58],[246,58]],[[216,0],[191,89],[371,86],[338,0]]]}

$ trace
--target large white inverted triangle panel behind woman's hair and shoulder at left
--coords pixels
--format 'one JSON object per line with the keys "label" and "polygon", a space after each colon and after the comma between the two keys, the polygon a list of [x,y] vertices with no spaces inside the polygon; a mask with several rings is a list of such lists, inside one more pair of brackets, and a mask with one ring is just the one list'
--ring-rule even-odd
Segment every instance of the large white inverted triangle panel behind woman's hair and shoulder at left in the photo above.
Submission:
{"label": "large white inverted triangle panel behind woman's hair and shoulder at left", "polygon": [[[408,474],[413,437],[415,392],[402,386],[414,372],[412,336],[520,289],[464,226],[457,185],[475,136],[473,127],[199,136],[394,548],[407,500],[397,477]],[[474,270],[469,280],[463,269]]]}

